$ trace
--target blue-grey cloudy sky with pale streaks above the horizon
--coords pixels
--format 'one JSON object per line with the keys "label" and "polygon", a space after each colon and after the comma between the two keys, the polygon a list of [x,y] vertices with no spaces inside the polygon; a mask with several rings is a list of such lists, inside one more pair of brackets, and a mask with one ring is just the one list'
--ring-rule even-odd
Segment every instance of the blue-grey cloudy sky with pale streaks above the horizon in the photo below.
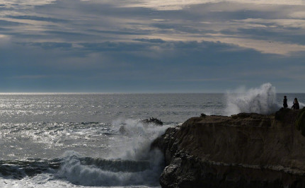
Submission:
{"label": "blue-grey cloudy sky with pale streaks above the horizon", "polygon": [[0,92],[305,93],[305,0],[0,0]]}

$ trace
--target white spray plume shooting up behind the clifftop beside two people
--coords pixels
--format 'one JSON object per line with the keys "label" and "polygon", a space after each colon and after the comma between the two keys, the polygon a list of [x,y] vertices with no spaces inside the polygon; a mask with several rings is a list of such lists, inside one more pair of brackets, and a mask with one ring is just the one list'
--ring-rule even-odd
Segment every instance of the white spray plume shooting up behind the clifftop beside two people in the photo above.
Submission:
{"label": "white spray plume shooting up behind the clifftop beside two people", "polygon": [[271,83],[264,83],[260,88],[246,90],[240,88],[226,93],[226,115],[241,112],[270,114],[279,109],[276,104],[276,91]]}

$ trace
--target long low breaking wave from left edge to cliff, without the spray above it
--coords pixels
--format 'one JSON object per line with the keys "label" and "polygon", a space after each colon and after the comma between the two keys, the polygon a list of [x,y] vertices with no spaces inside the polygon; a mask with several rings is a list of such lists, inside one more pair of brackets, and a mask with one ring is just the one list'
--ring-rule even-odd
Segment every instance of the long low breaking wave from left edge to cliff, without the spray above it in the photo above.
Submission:
{"label": "long low breaking wave from left edge to cliff, without the spray above it", "polygon": [[22,180],[46,173],[52,175],[53,180],[64,179],[84,186],[155,186],[161,173],[161,166],[149,161],[83,158],[74,151],[68,151],[65,155],[54,160],[1,160],[0,174],[6,179]]}

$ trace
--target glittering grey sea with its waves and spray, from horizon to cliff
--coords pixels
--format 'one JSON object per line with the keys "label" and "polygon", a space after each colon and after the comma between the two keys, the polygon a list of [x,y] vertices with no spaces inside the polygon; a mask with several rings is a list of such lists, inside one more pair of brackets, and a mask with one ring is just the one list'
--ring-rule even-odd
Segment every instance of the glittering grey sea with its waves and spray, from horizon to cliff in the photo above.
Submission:
{"label": "glittering grey sea with its waves and spray, from horizon to cliff", "polygon": [[[161,151],[150,144],[190,117],[271,113],[287,95],[265,84],[228,93],[3,93],[0,187],[160,187]],[[163,126],[143,124],[156,117]]]}

